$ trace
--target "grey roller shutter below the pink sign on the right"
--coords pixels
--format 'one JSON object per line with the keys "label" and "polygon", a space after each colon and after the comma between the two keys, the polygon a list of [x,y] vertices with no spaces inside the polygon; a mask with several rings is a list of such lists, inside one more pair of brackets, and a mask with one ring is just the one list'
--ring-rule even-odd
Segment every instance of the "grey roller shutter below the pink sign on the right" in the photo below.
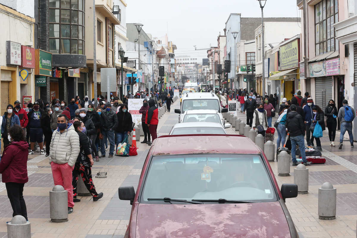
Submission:
{"label": "grey roller shutter below the pink sign on the right", "polygon": [[322,111],[332,99],[332,77],[321,77],[315,79],[316,102]]}

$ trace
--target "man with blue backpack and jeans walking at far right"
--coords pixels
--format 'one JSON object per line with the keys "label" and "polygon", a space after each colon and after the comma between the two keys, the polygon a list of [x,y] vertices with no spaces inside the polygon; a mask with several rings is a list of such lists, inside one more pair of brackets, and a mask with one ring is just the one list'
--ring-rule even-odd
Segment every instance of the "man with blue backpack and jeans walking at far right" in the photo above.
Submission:
{"label": "man with blue backpack and jeans walking at far right", "polygon": [[353,107],[348,106],[346,99],[342,101],[342,105],[343,107],[340,107],[340,110],[338,110],[338,119],[341,121],[340,146],[338,148],[342,149],[343,136],[346,131],[348,132],[351,147],[353,148],[355,146],[353,146],[352,121],[356,116],[355,110],[353,110]]}

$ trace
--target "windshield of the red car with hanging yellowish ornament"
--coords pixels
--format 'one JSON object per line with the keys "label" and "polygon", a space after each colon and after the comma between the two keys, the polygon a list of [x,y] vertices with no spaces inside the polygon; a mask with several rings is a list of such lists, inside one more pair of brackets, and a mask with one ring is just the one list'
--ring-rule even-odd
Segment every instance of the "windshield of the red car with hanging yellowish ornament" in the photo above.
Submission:
{"label": "windshield of the red car with hanging yellowish ornament", "polygon": [[260,155],[209,154],[152,157],[140,201],[148,198],[276,201]]}

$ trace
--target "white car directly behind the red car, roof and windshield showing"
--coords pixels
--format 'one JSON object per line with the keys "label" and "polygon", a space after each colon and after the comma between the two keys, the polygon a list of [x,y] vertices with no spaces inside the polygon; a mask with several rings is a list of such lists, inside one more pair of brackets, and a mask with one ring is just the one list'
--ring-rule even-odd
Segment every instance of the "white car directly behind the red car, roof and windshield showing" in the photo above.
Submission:
{"label": "white car directly behind the red car, roof and windshield showing", "polygon": [[169,135],[221,134],[226,135],[221,123],[216,122],[183,122],[175,124]]}

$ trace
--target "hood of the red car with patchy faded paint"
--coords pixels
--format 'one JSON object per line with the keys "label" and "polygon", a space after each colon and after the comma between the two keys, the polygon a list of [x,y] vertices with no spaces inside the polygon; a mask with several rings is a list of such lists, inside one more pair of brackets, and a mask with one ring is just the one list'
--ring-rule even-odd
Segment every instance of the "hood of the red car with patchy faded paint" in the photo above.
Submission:
{"label": "hood of the red car with patchy faded paint", "polygon": [[279,202],[139,204],[136,237],[291,237]]}

